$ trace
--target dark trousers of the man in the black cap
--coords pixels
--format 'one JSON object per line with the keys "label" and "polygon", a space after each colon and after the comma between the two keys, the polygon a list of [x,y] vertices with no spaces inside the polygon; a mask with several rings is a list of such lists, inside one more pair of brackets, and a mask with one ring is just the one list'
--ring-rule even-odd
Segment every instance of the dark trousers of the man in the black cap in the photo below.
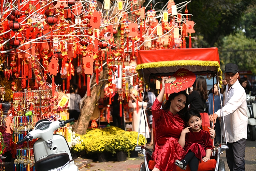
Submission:
{"label": "dark trousers of the man in the black cap", "polygon": [[246,139],[241,139],[234,143],[227,143],[227,145],[226,157],[230,171],[245,171],[244,156]]}

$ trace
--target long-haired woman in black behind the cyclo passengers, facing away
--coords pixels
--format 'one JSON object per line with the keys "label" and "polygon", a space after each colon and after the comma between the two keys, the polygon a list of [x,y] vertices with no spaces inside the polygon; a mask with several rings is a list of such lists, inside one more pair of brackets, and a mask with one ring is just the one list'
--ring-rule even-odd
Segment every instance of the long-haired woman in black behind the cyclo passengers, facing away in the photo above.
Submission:
{"label": "long-haired woman in black behind the cyclo passengers, facing away", "polygon": [[199,76],[196,79],[196,87],[194,90],[188,94],[188,104],[190,104],[190,109],[197,109],[199,113],[205,112],[205,102],[208,99],[208,93],[207,93],[207,83],[204,77]]}

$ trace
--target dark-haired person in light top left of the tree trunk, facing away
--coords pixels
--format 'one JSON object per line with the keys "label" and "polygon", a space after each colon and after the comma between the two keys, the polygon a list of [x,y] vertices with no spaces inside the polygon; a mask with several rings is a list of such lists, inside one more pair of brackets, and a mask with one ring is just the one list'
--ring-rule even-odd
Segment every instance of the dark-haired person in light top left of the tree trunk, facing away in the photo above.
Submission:
{"label": "dark-haired person in light top left of the tree trunk, facing away", "polygon": [[75,121],[78,119],[80,115],[80,101],[81,96],[77,94],[78,87],[75,84],[70,86],[70,106],[69,106],[69,118],[75,118]]}

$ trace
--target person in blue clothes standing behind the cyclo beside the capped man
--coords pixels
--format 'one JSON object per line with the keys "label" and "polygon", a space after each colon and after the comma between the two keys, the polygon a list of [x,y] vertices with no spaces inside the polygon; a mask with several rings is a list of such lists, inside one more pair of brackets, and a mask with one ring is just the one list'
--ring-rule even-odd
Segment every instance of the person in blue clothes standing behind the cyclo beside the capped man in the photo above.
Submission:
{"label": "person in blue clothes standing behind the cyclo beside the capped man", "polygon": [[[213,111],[213,95],[214,95],[214,111]],[[209,102],[208,114],[212,115],[213,112],[215,113],[217,112],[217,110],[221,109],[221,101],[223,101],[223,94],[221,94],[221,99],[220,99],[217,84],[214,84],[213,93],[210,93],[208,96],[208,102]],[[216,131],[215,141],[217,144],[220,144],[222,137],[221,137],[221,124],[219,124],[219,122],[216,122],[215,124],[215,131]]]}

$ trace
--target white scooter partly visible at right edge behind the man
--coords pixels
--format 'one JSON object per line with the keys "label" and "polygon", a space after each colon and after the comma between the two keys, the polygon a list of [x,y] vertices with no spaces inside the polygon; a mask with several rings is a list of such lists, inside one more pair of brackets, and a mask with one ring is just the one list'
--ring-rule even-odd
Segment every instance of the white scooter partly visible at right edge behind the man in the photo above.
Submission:
{"label": "white scooter partly visible at right edge behind the man", "polygon": [[247,133],[252,141],[256,140],[256,104],[253,103],[255,96],[246,95],[248,125]]}

